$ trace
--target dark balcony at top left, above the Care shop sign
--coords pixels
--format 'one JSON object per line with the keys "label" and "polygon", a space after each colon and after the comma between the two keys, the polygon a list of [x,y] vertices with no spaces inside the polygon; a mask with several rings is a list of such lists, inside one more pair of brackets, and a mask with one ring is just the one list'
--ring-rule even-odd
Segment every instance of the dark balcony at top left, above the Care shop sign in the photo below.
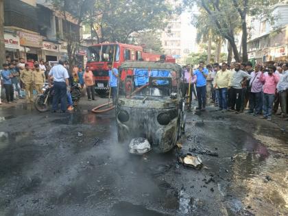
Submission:
{"label": "dark balcony at top left, above the Care shop sign", "polygon": [[4,25],[38,32],[36,7],[20,0],[5,0]]}

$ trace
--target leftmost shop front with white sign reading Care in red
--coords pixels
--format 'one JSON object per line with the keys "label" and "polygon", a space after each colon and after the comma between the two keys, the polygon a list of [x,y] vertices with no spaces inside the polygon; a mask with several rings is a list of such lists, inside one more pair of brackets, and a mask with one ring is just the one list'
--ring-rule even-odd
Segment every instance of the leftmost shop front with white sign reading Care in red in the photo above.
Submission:
{"label": "leftmost shop front with white sign reading Care in red", "polygon": [[16,34],[4,33],[5,56],[11,59],[19,59],[20,41]]}

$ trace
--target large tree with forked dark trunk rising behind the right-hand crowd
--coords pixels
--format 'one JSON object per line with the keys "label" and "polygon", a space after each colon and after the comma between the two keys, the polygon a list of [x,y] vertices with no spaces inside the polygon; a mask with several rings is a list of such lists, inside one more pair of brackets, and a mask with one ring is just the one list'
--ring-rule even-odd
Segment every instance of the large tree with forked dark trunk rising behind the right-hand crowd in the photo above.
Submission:
{"label": "large tree with forked dark trunk rising behind the right-hand crowd", "polygon": [[197,4],[203,8],[214,23],[217,32],[228,40],[234,58],[240,61],[239,51],[235,43],[235,33],[240,26],[242,31],[241,46],[242,60],[248,61],[247,40],[248,27],[247,16],[264,18],[273,22],[272,5],[282,0],[184,0],[186,5]]}

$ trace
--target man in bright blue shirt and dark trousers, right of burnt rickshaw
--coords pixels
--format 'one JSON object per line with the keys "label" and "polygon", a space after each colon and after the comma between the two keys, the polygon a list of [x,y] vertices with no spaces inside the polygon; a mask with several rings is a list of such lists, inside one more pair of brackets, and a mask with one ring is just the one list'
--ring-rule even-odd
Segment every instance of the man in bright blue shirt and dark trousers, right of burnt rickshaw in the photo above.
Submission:
{"label": "man in bright blue shirt and dark trousers, right of burnt rickshaw", "polygon": [[194,75],[197,77],[198,109],[204,111],[206,108],[206,77],[208,76],[208,69],[204,68],[204,62],[199,63],[199,68],[194,71]]}

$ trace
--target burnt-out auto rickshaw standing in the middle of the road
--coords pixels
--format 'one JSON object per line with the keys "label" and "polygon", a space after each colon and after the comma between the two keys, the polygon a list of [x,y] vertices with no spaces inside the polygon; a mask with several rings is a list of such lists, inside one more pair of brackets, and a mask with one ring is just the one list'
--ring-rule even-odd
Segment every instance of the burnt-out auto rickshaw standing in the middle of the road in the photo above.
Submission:
{"label": "burnt-out auto rickshaw standing in the middle of the road", "polygon": [[[129,142],[132,154],[171,150],[185,128],[185,98],[180,88],[181,67],[170,62],[124,62],[119,73],[132,70],[131,88],[119,79],[116,101],[117,135]],[[124,83],[123,83],[124,82]]]}

